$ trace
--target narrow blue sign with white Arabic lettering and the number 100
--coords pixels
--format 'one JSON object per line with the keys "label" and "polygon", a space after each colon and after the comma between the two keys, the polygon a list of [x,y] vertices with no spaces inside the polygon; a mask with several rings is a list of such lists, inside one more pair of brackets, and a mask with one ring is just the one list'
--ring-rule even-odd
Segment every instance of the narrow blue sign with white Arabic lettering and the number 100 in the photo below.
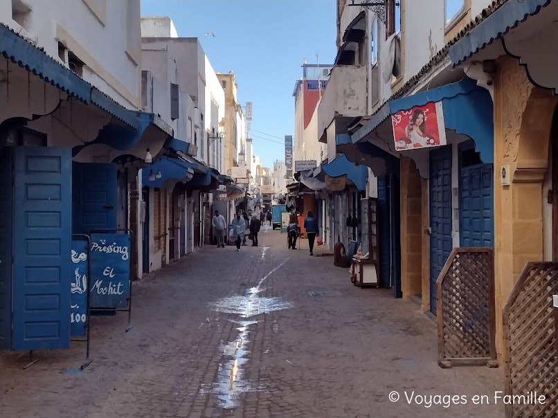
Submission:
{"label": "narrow blue sign with white Arabic lettering and the number 100", "polygon": [[85,336],[87,324],[87,246],[89,242],[84,239],[72,240],[72,270],[71,270],[71,336]]}

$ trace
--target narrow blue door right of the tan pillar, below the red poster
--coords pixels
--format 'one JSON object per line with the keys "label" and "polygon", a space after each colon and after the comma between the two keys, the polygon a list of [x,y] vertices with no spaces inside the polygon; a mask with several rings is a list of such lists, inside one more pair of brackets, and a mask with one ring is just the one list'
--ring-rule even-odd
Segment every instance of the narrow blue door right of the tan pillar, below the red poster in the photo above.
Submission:
{"label": "narrow blue door right of the tan pillar, below the red poster", "polygon": [[436,280],[453,248],[451,145],[430,152],[430,311],[436,314]]}

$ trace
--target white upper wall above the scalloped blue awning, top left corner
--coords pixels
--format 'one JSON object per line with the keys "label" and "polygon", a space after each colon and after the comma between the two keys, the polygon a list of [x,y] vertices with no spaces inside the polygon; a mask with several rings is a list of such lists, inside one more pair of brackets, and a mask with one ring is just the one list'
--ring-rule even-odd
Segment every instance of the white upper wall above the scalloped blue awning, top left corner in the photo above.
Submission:
{"label": "white upper wall above the scalloped blue awning, top left corner", "polygon": [[[58,42],[86,67],[82,77],[129,109],[141,98],[139,0],[24,0],[30,12],[12,19],[12,1],[0,2],[0,21],[33,40],[55,60]],[[76,17],[79,17],[77,19]],[[67,64],[66,64],[67,66]]]}

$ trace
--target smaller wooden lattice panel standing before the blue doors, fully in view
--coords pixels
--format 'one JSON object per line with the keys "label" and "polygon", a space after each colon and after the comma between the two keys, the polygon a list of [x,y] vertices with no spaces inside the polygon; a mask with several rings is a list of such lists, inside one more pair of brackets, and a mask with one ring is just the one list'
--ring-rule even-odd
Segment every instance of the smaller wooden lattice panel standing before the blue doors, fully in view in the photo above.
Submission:
{"label": "smaller wooden lattice panel standing before the blue doors, fully in view", "polygon": [[496,365],[491,248],[455,248],[436,281],[438,363]]}

